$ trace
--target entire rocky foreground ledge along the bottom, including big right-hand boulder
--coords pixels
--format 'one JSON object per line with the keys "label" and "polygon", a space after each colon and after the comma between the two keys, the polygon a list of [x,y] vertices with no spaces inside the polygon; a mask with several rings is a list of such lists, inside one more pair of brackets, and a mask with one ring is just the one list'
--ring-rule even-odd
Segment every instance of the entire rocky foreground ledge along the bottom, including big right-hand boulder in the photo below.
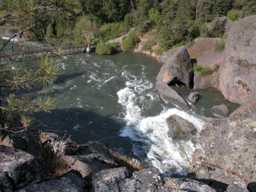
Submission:
{"label": "entire rocky foreground ledge along the bottom, including big right-hand boulder", "polygon": [[[186,177],[163,177],[156,167],[132,168],[96,141],[66,140],[63,153],[47,156],[49,143],[61,149],[61,141],[52,133],[5,138],[0,191],[256,191],[256,111],[206,122]],[[52,167],[58,176],[51,175]]]}

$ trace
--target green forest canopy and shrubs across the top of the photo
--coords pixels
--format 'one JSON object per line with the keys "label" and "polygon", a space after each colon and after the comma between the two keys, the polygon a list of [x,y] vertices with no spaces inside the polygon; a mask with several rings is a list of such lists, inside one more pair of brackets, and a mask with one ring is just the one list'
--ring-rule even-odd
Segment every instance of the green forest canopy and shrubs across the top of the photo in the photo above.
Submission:
{"label": "green forest canopy and shrubs across the top of the photo", "polygon": [[19,38],[59,46],[81,44],[82,31],[90,31],[97,44],[121,36],[129,27],[138,35],[154,28],[154,40],[166,50],[211,37],[205,25],[217,17],[234,21],[254,14],[254,0],[3,0],[0,32],[9,29]]}

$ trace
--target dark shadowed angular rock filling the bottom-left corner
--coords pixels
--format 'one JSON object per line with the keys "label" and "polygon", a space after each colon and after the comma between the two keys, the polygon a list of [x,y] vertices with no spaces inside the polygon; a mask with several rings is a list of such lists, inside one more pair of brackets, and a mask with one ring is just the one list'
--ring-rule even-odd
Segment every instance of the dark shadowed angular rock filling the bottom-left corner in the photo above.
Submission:
{"label": "dark shadowed angular rock filling the bottom-left corner", "polygon": [[45,181],[49,175],[43,159],[3,145],[0,145],[0,167],[0,188],[5,192]]}

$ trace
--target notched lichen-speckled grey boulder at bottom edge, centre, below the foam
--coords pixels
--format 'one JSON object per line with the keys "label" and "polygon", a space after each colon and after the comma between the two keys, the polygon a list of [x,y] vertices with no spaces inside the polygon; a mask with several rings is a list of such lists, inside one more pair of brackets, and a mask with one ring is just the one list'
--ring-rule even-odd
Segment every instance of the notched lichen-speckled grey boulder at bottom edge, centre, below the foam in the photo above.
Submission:
{"label": "notched lichen-speckled grey boulder at bottom edge, centre, below the foam", "polygon": [[93,173],[91,191],[160,192],[163,191],[160,190],[163,185],[160,175],[157,168],[134,171],[132,178],[129,178],[130,174],[126,167],[102,170]]}

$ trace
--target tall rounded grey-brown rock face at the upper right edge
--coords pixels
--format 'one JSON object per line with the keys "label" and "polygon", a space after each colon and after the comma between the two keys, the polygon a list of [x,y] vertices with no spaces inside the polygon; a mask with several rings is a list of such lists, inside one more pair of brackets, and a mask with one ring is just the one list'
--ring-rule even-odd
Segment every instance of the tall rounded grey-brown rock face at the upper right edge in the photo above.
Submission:
{"label": "tall rounded grey-brown rock face at the upper right edge", "polygon": [[219,69],[219,89],[228,100],[243,104],[256,90],[256,16],[231,27]]}

